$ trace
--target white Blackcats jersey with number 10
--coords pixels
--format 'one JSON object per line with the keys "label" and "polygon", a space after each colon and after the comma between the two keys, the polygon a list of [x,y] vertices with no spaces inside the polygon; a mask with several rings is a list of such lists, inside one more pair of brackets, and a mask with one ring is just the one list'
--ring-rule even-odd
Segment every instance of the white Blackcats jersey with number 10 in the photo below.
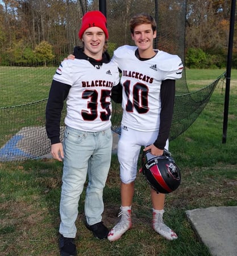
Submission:
{"label": "white Blackcats jersey with number 10", "polygon": [[122,71],[122,124],[138,131],[158,131],[160,126],[160,87],[166,79],[182,76],[182,61],[177,55],[157,51],[148,60],[135,56],[136,46],[122,46],[114,51],[112,61]]}

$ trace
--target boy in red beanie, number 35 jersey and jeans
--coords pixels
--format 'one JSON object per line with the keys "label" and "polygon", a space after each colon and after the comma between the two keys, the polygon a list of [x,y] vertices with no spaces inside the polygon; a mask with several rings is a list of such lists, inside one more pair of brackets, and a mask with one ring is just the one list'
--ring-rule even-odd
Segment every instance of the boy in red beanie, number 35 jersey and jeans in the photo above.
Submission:
{"label": "boy in red beanie, number 35 jersey and jeans", "polygon": [[[53,76],[46,107],[46,130],[54,159],[63,161],[60,199],[60,255],[77,254],[76,219],[86,176],[86,227],[99,239],[109,230],[102,222],[103,188],[111,161],[111,102],[113,86],[119,84],[118,67],[104,51],[109,34],[106,17],[89,11],[82,17],[78,33],[83,47],[76,60],[64,60]],[[60,141],[60,119],[66,99],[64,141]]]}

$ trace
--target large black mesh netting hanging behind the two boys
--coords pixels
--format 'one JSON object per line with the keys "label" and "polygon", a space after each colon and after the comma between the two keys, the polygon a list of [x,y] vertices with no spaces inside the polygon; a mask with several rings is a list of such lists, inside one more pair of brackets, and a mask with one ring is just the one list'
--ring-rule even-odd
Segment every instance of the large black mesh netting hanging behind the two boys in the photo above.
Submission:
{"label": "large black mesh netting hanging behind the two boys", "polygon": [[[12,11],[5,10],[6,21],[15,30],[9,29],[6,47],[2,41],[0,49],[0,161],[36,159],[49,153],[45,106],[53,74],[60,61],[79,44],[77,33],[82,15],[99,7],[99,1],[19,1]],[[184,61],[186,0],[107,1],[106,10],[110,55],[118,46],[133,44],[130,18],[145,12],[157,21],[154,47],[178,54]],[[20,18],[11,17],[14,11]],[[16,40],[11,43],[13,37]],[[52,46],[53,56],[45,51],[40,55],[37,47],[41,42]],[[170,139],[175,139],[197,119],[222,77],[202,90],[189,92],[184,71],[176,83]],[[62,139],[64,116],[65,109]],[[117,133],[121,116],[120,105],[113,104],[111,121]]]}

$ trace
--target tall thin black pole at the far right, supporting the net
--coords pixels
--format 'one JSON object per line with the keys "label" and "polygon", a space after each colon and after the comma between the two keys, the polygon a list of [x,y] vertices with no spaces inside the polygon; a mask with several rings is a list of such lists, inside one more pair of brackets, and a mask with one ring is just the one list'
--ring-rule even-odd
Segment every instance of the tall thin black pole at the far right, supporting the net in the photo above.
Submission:
{"label": "tall thin black pole at the far right, supporting the net", "polygon": [[234,27],[235,27],[235,8],[236,8],[236,0],[232,0],[231,14],[230,14],[230,32],[229,32],[229,41],[228,41],[227,67],[226,67],[226,92],[224,95],[224,118],[223,118],[222,143],[226,143],[226,137],[227,137],[228,105],[229,105],[229,99],[230,99],[230,77],[231,77],[232,50],[233,50]]}

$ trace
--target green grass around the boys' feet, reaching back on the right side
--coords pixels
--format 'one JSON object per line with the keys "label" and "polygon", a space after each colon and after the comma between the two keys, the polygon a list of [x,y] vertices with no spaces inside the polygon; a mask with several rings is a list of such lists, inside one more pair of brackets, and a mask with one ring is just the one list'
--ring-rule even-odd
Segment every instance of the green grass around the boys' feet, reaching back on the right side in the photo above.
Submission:
{"label": "green grass around the boys' feet, reaching back on the right side", "polygon": [[[206,86],[222,72],[187,70],[187,82],[190,87]],[[138,174],[132,206],[133,228],[117,242],[95,239],[86,229],[85,191],[82,193],[76,221],[78,255],[210,256],[185,211],[237,205],[237,71],[231,74],[226,143],[222,143],[224,84],[215,88],[198,119],[170,142],[169,150],[181,168],[182,182],[166,197],[164,220],[176,231],[178,239],[167,241],[151,229],[149,186]],[[59,255],[61,174],[61,162],[52,159],[0,163],[0,255]],[[118,220],[119,182],[118,159],[113,155],[103,194],[103,221],[109,228]]]}

